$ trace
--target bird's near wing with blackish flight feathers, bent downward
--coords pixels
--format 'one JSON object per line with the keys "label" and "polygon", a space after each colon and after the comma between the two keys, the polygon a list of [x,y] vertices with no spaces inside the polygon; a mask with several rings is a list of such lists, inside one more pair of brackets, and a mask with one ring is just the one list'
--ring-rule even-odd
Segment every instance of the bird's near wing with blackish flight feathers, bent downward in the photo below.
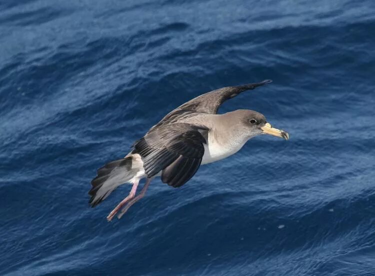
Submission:
{"label": "bird's near wing with blackish flight feathers, bent downward", "polygon": [[189,123],[160,125],[136,141],[132,152],[142,157],[147,177],[161,171],[164,183],[179,187],[199,168],[206,143],[204,131],[208,129]]}

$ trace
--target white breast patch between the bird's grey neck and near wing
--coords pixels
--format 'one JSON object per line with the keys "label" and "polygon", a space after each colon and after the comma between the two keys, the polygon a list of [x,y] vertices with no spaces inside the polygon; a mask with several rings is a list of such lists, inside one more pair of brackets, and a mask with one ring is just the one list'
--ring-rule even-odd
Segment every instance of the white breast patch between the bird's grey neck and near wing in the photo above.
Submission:
{"label": "white breast patch between the bird's grey neck and near wing", "polygon": [[224,143],[218,143],[208,134],[208,143],[203,144],[204,154],[201,164],[208,164],[223,158],[226,158],[237,152],[247,141],[247,139],[230,140]]}

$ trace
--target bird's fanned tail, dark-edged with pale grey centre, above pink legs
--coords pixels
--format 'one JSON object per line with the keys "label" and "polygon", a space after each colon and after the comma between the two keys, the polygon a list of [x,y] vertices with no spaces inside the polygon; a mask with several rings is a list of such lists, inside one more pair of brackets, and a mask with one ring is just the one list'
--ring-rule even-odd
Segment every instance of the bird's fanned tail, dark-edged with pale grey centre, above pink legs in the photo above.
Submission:
{"label": "bird's fanned tail, dark-edged with pale grey centre, above pink legs", "polygon": [[[129,154],[122,159],[111,161],[97,170],[97,175],[91,181],[91,189],[88,194],[91,195],[88,201],[91,207],[95,207],[103,201],[116,187],[130,182],[140,170],[140,158]],[[137,160],[139,159],[139,160]]]}

